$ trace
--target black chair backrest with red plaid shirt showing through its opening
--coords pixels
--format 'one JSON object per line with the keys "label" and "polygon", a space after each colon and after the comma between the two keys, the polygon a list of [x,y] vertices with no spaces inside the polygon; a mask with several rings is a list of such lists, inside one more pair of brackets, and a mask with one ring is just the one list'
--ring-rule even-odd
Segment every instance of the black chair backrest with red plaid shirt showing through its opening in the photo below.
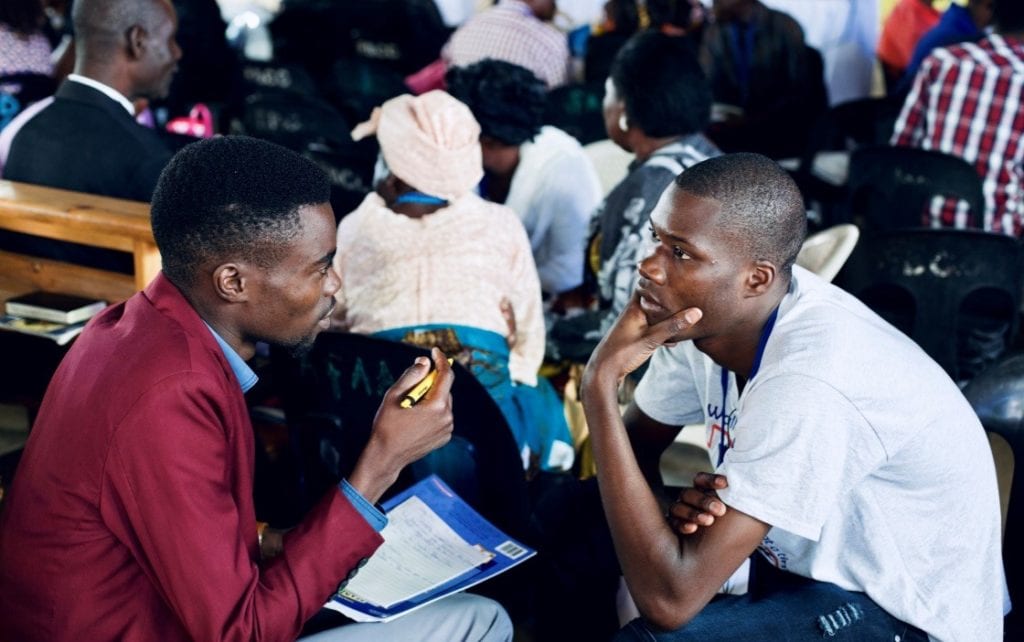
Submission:
{"label": "black chair backrest with red plaid shirt showing through its opening", "polygon": [[966,201],[968,227],[977,227],[985,211],[981,177],[964,159],[887,145],[860,147],[850,157],[847,211],[865,231],[929,226],[934,197]]}

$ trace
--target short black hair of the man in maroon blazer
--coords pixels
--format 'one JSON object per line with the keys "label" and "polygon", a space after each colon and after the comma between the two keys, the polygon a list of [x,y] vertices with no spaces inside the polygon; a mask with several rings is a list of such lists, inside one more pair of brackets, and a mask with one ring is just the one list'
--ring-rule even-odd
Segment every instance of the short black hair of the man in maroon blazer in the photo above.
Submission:
{"label": "short black hair of the man in maroon blazer", "polygon": [[247,136],[188,144],[153,195],[164,274],[187,290],[211,261],[273,265],[300,231],[299,208],[330,200],[324,170],[281,145]]}

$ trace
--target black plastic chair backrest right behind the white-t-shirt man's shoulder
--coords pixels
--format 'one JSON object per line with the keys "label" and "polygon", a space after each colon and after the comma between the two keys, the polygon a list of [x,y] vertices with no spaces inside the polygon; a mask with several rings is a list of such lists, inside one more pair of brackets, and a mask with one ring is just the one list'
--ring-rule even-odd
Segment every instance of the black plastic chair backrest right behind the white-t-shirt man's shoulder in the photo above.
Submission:
{"label": "black plastic chair backrest right behind the white-t-shirt man's shoulder", "polygon": [[897,230],[863,237],[842,285],[963,380],[981,369],[966,360],[978,352],[972,342],[997,341],[1001,352],[1015,336],[1021,258],[1020,243],[1001,234]]}

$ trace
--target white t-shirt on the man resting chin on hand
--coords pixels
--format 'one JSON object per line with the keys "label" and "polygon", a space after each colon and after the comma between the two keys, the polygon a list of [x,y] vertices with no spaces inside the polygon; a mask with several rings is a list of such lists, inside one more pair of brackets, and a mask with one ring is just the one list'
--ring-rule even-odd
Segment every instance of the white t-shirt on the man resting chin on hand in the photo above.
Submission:
{"label": "white t-shirt on the man resting chin on hand", "polygon": [[776,566],[866,593],[934,640],[1002,639],[998,491],[977,417],[906,336],[793,276],[742,396],[727,373],[723,401],[722,369],[687,341],[655,352],[637,405],[705,423],[729,478],[719,495],[771,524],[760,551]]}

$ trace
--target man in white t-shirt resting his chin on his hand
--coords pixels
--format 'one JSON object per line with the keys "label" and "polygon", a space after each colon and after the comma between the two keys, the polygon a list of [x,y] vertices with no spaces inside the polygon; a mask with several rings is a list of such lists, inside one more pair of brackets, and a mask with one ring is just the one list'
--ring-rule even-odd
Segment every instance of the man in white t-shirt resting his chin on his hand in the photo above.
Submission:
{"label": "man in white t-shirt resting his chin on his hand", "polygon": [[[637,292],[583,383],[601,502],[642,615],[618,639],[1001,639],[984,431],[907,337],[794,266],[806,224],[793,180],[761,156],[711,159],[650,221]],[[648,357],[624,422],[618,383]],[[670,521],[647,478],[696,422],[719,476],[685,491]],[[716,598],[755,552],[751,591]]]}

